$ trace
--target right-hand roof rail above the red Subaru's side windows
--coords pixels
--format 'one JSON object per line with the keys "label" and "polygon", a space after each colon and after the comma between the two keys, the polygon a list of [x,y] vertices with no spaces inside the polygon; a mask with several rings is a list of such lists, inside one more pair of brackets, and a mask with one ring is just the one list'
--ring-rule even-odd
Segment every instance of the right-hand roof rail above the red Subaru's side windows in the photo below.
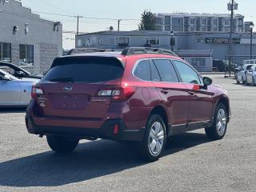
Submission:
{"label": "right-hand roof rail above the red Subaru's side windows", "polygon": [[170,54],[175,57],[178,57],[177,54],[174,54],[171,50],[164,50],[160,48],[151,48],[151,47],[127,47],[122,51],[122,55],[132,55],[132,54]]}

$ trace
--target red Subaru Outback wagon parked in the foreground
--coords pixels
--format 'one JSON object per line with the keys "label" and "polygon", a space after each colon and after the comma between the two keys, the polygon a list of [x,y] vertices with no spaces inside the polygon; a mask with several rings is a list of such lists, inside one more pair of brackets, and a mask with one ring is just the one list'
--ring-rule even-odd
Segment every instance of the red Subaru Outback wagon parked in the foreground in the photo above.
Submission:
{"label": "red Subaru Outback wagon parked in the foreground", "polygon": [[150,161],[170,135],[205,128],[221,139],[229,121],[226,90],[170,50],[152,48],[56,58],[26,110],[29,133],[46,135],[56,152],[106,138],[134,141]]}

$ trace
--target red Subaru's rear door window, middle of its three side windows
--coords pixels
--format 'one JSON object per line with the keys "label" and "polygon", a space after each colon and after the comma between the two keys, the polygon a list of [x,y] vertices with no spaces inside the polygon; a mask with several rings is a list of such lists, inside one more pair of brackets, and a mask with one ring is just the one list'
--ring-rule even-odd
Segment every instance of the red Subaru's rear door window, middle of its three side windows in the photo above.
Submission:
{"label": "red Subaru's rear door window, middle of its three side windows", "polygon": [[154,59],[153,62],[160,74],[162,82],[178,82],[178,76],[169,59]]}

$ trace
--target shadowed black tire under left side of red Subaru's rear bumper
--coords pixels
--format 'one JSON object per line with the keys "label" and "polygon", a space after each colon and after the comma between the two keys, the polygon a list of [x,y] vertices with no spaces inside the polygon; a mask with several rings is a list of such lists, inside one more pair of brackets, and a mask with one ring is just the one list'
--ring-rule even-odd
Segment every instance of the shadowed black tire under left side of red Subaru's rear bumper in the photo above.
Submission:
{"label": "shadowed black tire under left side of red Subaru's rear bumper", "polygon": [[70,153],[78,146],[79,139],[57,135],[46,135],[50,149],[57,153]]}

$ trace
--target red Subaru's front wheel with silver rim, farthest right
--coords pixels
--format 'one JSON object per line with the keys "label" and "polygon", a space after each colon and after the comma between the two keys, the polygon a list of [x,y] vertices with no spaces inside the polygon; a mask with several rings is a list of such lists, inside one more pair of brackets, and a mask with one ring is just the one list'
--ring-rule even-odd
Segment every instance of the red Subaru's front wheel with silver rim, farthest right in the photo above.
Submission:
{"label": "red Subaru's front wheel with silver rim, farthest right", "polygon": [[222,103],[218,103],[214,112],[213,125],[205,128],[206,136],[211,140],[224,138],[226,134],[227,118],[226,106]]}

